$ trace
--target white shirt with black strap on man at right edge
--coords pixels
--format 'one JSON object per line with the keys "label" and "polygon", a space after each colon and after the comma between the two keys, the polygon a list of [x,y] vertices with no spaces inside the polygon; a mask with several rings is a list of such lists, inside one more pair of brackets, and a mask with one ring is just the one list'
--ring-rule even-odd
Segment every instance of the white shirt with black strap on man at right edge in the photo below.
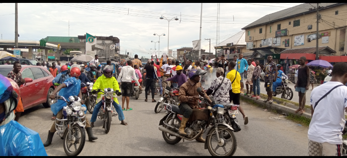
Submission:
{"label": "white shirt with black strap on man at right edge", "polygon": [[[326,82],[311,93],[311,105],[328,91],[341,82]],[[347,87],[341,86],[332,90],[314,108],[314,114],[310,123],[308,138],[314,142],[328,142],[330,144],[342,144],[342,130],[345,125],[345,108],[347,107]]]}

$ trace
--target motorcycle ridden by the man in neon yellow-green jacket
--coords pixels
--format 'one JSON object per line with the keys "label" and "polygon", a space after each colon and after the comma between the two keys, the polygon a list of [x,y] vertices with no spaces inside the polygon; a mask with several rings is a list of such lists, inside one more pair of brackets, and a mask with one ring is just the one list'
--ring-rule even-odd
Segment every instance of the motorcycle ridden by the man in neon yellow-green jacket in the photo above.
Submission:
{"label": "motorcycle ridden by the man in neon yellow-green jacket", "polygon": [[103,93],[103,95],[100,95],[100,97],[102,98],[101,101],[103,103],[103,106],[101,106],[99,110],[98,118],[103,119],[104,121],[103,128],[105,128],[105,133],[108,133],[111,128],[112,117],[116,116],[113,114],[113,108],[112,108],[113,98],[117,97],[117,95],[122,95],[122,94],[118,90],[114,91],[113,88],[105,88],[103,91],[101,89],[96,89],[96,92]]}

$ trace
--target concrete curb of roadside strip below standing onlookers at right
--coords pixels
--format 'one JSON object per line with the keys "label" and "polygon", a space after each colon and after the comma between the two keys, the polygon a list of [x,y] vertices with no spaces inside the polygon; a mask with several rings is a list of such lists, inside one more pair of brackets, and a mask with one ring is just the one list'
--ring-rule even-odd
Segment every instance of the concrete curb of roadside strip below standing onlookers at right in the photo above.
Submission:
{"label": "concrete curb of roadside strip below standing onlookers at right", "polygon": [[293,115],[297,115],[297,116],[302,116],[302,117],[306,117],[308,119],[311,119],[311,113],[307,113],[307,112],[304,112],[303,114],[298,114],[298,113],[295,113],[295,111],[297,109],[293,109],[293,108],[290,108],[290,107],[286,107],[286,106],[283,106],[283,105],[280,105],[280,104],[276,104],[274,102],[272,102],[272,104],[268,103],[268,102],[264,102],[264,99],[256,99],[256,98],[252,98],[250,96],[246,96],[246,95],[241,95],[241,97],[243,99],[246,99],[246,100],[250,100],[250,101],[253,101],[255,102],[257,105],[261,106],[261,107],[265,107],[266,109],[268,110],[275,110],[277,111],[278,113],[285,113],[285,114],[293,114]]}

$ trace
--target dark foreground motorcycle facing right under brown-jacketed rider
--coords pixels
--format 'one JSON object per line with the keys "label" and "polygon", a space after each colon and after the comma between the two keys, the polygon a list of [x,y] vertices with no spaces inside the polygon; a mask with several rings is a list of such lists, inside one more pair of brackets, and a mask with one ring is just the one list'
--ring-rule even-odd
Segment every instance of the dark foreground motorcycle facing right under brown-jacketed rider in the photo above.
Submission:
{"label": "dark foreground motorcycle facing right under brown-jacketed rider", "polygon": [[[201,92],[201,88],[198,88],[197,91]],[[231,110],[231,106],[224,105],[222,108],[219,105],[214,105],[207,98],[201,96],[199,98],[207,104],[207,109],[193,109],[184,129],[184,132],[187,133],[185,136],[178,133],[183,117],[179,107],[164,103],[168,113],[160,120],[159,130],[162,131],[165,142],[176,144],[182,139],[183,142],[184,140],[192,141],[200,137],[209,125],[212,125],[207,132],[205,149],[208,149],[212,156],[232,156],[237,148],[236,138],[233,134],[234,129],[226,124],[223,118],[224,113]]]}

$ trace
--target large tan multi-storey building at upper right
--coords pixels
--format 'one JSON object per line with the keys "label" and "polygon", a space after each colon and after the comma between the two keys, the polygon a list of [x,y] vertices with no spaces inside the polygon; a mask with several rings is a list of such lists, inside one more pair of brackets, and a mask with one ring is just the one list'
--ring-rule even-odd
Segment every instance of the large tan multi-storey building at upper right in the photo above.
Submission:
{"label": "large tan multi-storey building at upper right", "polygon": [[[316,5],[300,4],[266,15],[245,26],[242,30],[246,31],[246,49],[255,52],[254,58],[264,58],[268,54],[283,54],[286,52],[284,49],[300,53],[298,51],[303,50],[300,48],[315,47]],[[330,50],[330,54],[336,52],[337,56],[346,55],[347,3],[319,3],[319,6],[318,47],[325,47],[318,50],[319,54],[320,51]],[[308,54],[312,53],[310,51]]]}

